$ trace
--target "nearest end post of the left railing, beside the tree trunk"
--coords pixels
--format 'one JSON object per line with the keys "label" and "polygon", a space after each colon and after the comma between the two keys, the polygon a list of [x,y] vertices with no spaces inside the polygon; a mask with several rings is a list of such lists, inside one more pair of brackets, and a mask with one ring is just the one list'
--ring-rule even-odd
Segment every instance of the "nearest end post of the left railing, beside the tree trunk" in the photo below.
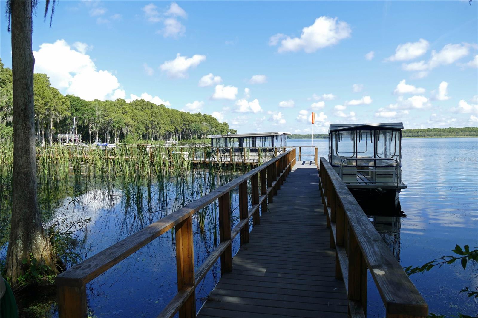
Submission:
{"label": "nearest end post of the left railing, beside the tree trunk", "polygon": [[58,286],[58,317],[88,317],[86,286]]}

